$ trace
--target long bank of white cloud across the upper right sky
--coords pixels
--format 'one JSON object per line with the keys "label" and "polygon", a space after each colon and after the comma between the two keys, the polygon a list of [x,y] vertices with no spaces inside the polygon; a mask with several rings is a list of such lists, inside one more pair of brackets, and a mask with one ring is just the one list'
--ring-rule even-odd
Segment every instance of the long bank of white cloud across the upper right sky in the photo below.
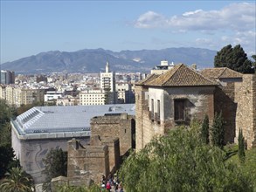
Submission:
{"label": "long bank of white cloud across the upper right sky", "polygon": [[154,11],[135,21],[137,28],[171,28],[177,31],[246,31],[255,29],[255,3],[232,3],[222,10],[194,10],[165,17]]}

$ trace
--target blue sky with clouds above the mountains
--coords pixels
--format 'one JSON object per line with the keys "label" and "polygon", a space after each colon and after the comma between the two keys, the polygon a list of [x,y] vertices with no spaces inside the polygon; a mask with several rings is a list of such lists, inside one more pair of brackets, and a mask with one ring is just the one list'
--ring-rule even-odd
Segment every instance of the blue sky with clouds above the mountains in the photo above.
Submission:
{"label": "blue sky with clouds above the mountains", "polygon": [[220,51],[241,45],[256,52],[256,3],[249,1],[0,0],[0,63],[43,51]]}

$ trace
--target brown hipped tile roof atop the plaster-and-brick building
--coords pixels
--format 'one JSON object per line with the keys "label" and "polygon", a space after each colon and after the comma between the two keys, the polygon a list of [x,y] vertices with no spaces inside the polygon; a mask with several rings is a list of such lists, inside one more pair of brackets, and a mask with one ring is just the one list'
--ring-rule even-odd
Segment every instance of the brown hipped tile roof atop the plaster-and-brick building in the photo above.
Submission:
{"label": "brown hipped tile roof atop the plaster-and-brick building", "polygon": [[210,79],[190,67],[180,64],[175,65],[168,72],[159,75],[156,79],[144,83],[145,86],[218,86]]}

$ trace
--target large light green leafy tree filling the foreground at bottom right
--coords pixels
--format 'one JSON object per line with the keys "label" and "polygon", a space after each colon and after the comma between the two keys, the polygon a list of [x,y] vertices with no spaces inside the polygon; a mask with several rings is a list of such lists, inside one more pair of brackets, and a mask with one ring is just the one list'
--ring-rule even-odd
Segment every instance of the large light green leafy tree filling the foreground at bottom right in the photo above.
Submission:
{"label": "large light green leafy tree filling the foreground at bottom right", "polygon": [[171,130],[132,153],[119,175],[127,192],[253,191],[252,180],[193,131]]}

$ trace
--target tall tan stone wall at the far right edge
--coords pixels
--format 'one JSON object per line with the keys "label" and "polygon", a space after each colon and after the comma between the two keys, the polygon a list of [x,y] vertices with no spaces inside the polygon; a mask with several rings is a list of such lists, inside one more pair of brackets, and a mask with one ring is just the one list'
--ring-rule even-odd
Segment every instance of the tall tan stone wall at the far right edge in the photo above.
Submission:
{"label": "tall tan stone wall at the far right edge", "polygon": [[256,147],[256,75],[244,74],[243,82],[235,85],[235,93],[238,103],[235,141],[238,141],[241,128],[247,147]]}

